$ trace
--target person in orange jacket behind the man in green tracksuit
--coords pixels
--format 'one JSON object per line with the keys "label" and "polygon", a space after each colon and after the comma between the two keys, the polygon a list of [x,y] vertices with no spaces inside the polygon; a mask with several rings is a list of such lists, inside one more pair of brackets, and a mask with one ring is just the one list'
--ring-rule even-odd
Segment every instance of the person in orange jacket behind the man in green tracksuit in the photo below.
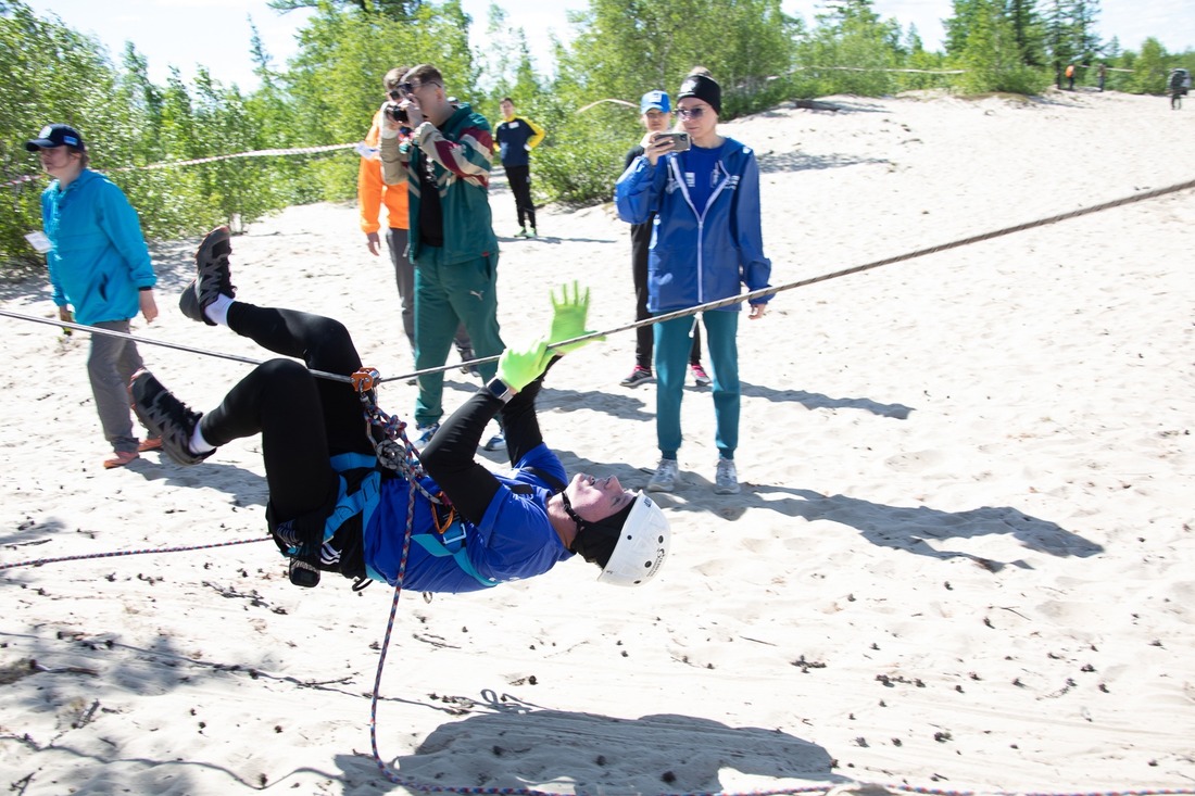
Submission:
{"label": "person in orange jacket behind the man in green tracksuit", "polygon": [[[410,220],[407,218],[406,183],[387,185],[381,177],[381,160],[378,157],[378,140],[380,136],[382,114],[398,112],[398,103],[402,93],[398,84],[406,74],[406,67],[396,67],[382,78],[386,96],[390,103],[374,114],[373,123],[364,141],[357,145],[357,153],[361,155],[361,166],[357,170],[357,204],[361,209],[361,231],[366,233],[366,246],[369,253],[378,256],[381,251],[381,208],[386,207],[386,246],[390,249],[390,259],[394,265],[394,281],[398,283],[398,296],[403,304],[403,332],[411,344],[411,353],[415,353],[415,265],[407,257],[407,243],[410,237]],[[393,111],[391,110],[393,109]],[[397,117],[396,117],[397,118]],[[410,135],[410,128],[403,128],[402,135]],[[461,325],[456,330],[453,341],[460,353],[461,361],[473,359],[473,344],[468,338],[468,332]],[[465,369],[465,368],[462,368]],[[470,372],[476,368],[470,368]]]}

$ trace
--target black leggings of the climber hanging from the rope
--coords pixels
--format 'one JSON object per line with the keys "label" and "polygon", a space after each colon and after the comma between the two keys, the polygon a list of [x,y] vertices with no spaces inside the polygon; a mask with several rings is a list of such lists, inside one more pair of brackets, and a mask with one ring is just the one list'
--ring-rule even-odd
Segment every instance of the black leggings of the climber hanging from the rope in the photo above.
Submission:
{"label": "black leggings of the climber hanging from the rope", "polygon": [[349,375],[361,357],[343,324],[306,312],[237,301],[228,327],[306,367],[282,359],[257,366],[203,416],[200,429],[215,446],[261,434],[274,515],[280,522],[299,518],[325,506],[338,489],[332,455],[374,453],[353,385],[307,371]]}

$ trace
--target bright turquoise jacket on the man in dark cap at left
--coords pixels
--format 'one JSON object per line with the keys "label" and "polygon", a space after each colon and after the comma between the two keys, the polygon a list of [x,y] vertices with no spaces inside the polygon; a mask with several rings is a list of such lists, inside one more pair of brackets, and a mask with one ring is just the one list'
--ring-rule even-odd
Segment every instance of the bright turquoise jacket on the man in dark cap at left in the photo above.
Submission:
{"label": "bright turquoise jacket on the man in dark cap at left", "polygon": [[140,288],[158,282],[141,220],[108,177],[84,169],[67,189],[42,191],[42,227],[54,244],[47,255],[54,304],[74,307],[80,324],[128,320]]}

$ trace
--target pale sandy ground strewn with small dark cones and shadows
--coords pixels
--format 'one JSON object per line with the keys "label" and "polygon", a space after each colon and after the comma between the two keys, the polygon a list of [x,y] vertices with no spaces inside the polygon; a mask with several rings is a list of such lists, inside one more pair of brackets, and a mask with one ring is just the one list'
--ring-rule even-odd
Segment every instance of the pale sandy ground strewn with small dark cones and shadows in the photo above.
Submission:
{"label": "pale sandy ground strewn with small dark cones and shadows", "polygon": [[[831,102],[724,125],[760,158],[776,284],[1195,178],[1195,111],[1164,98]],[[546,329],[563,281],[592,286],[596,327],[632,319],[609,206],[545,209],[532,241],[505,237],[504,186],[492,206],[508,339]],[[782,293],[740,329],[743,492],[712,494],[712,406],[692,387],[684,484],[660,500],[674,547],[650,586],[569,562],[484,594],[403,594],[381,758],[446,789],[1191,792],[1193,220],[1177,192]],[[174,310],[195,243],[157,247],[163,317],[135,332],[262,356]],[[246,300],[341,318],[384,375],[410,369],[354,208],[255,224],[233,264]],[[0,290],[54,317],[38,281]],[[102,470],[86,336],[0,323],[0,565],[251,541],[2,571],[0,783],[404,790],[369,753],[393,592],[287,582],[259,541],[257,440],[197,467]],[[201,409],[249,368],[141,350]],[[618,386],[632,365],[621,333],[553,371],[541,422],[570,471],[645,484],[654,388]],[[449,408],[474,386],[451,372]],[[409,414],[413,388],[388,382],[381,404]]]}

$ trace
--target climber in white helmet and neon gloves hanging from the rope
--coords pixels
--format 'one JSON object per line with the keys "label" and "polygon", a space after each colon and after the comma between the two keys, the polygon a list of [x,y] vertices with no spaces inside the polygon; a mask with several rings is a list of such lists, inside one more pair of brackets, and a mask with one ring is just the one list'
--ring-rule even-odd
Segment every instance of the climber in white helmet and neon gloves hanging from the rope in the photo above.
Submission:
{"label": "climber in white helmet and neon gloves hanging from the rope", "polygon": [[[265,518],[290,559],[292,582],[315,586],[320,571],[331,571],[397,584],[405,561],[407,589],[473,592],[540,575],[574,555],[600,568],[600,582],[638,586],[656,575],[669,543],[660,507],[645,494],[624,490],[613,476],[577,473],[566,480],[535,416],[545,372],[584,343],[550,345],[589,333],[588,290],[574,286],[569,295],[565,288],[559,300],[553,294],[549,335],[505,350],[497,376],[423,448],[428,477],[417,484],[407,520],[412,485],[379,465],[356,387],[308,371],[349,376],[361,368],[344,325],[238,300],[231,255],[228,228],[212,231],[195,255],[196,278],[179,308],[281,357],[257,366],[206,415],[180,403],[148,371],[133,379],[134,405],[159,431],[166,453],[184,465],[262,435]],[[496,476],[474,454],[486,423],[500,414],[514,471]]]}

